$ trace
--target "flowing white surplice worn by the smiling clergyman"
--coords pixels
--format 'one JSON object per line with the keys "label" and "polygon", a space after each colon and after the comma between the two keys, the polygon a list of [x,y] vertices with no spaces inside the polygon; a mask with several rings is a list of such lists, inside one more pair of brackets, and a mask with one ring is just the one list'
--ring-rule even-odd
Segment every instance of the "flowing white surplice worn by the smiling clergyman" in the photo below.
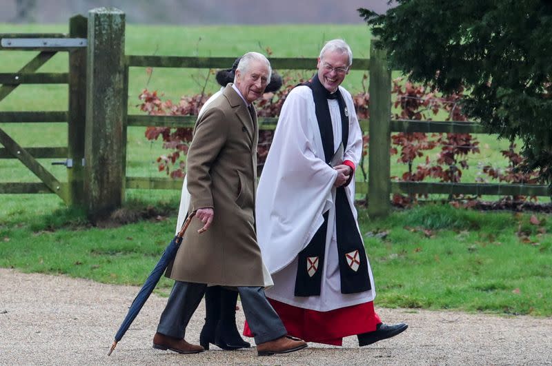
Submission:
{"label": "flowing white surplice worn by the smiling clergyman", "polygon": [[[362,156],[362,132],[351,94],[342,87],[339,90],[346,102],[349,117],[344,161],[352,161],[357,166]],[[342,141],[341,114],[337,99],[328,99],[328,106],[335,151]],[[335,236],[333,183],[336,176],[337,172],[324,161],[311,88],[298,86],[286,98],[257,187],[257,241],[264,263],[275,283],[266,290],[268,298],[320,312],[367,303],[375,298],[369,262],[371,290],[357,294],[341,293]],[[356,222],[354,177],[345,187],[345,192]],[[324,221],[322,214],[328,210],[326,256],[320,296],[295,296],[297,254],[310,243]],[[359,230],[358,225],[349,230]]]}

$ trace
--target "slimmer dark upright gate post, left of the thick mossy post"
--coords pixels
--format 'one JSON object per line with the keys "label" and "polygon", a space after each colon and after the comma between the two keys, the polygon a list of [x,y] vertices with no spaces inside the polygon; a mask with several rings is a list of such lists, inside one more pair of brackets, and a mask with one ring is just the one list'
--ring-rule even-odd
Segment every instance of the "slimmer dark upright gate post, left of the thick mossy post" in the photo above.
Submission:
{"label": "slimmer dark upright gate post, left of the thick mossy post", "polygon": [[[69,19],[69,35],[86,38],[88,20],[82,15]],[[70,206],[86,204],[84,195],[84,130],[86,126],[86,48],[69,52],[69,113],[68,113],[68,159],[72,167],[67,170]]]}

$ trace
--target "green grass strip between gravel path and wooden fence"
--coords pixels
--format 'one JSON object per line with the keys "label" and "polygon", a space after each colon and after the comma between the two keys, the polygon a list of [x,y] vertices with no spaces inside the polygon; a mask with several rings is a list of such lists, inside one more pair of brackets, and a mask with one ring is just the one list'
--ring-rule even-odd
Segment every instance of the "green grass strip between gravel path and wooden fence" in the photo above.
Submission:
{"label": "green grass strip between gravel path and wooden fence", "polygon": [[[140,285],[174,235],[179,197],[136,193],[128,205],[161,214],[109,228],[90,227],[52,195],[3,201],[0,267]],[[359,210],[376,305],[552,316],[552,221],[530,218],[424,205],[373,221]],[[164,278],[157,292],[170,286]]]}

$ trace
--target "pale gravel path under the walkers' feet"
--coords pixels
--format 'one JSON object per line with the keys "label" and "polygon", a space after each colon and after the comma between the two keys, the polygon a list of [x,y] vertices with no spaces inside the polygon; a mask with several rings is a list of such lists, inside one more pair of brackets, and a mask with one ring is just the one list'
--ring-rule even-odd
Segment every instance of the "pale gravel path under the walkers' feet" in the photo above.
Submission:
{"label": "pale gravel path under the walkers' feet", "polygon": [[[113,336],[138,287],[0,269],[0,365],[552,365],[552,318],[378,309],[388,323],[406,321],[395,338],[359,348],[311,343],[286,356],[253,349],[180,355],[152,349],[166,299],[152,295],[112,356]],[[186,338],[203,325],[203,302]],[[238,322],[244,320],[238,312]]]}

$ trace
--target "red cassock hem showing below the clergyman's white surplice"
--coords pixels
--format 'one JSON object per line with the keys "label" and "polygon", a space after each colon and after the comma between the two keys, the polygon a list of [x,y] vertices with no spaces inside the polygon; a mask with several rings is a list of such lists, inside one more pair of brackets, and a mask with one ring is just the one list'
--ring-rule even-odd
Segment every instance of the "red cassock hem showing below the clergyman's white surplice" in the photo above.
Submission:
{"label": "red cassock hem showing below the clergyman's white surplice", "polygon": [[[362,303],[348,307],[317,312],[268,299],[282,319],[288,334],[306,342],[342,345],[343,337],[373,332],[380,321],[375,314],[374,303]],[[246,321],[244,336],[253,337]]]}

